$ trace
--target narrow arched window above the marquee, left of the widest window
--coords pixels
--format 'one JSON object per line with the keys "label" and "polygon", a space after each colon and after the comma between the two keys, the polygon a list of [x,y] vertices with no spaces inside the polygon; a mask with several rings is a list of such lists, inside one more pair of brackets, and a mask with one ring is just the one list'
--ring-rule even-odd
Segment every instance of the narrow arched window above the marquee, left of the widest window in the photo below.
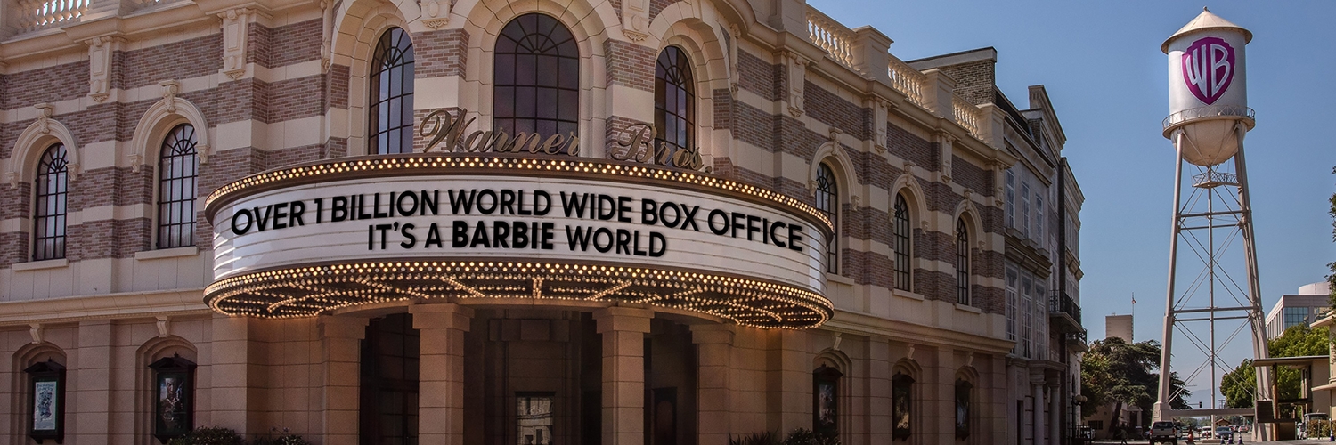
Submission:
{"label": "narrow arched window above the marquee, left of the widest window", "polygon": [[390,28],[371,55],[367,154],[413,152],[413,40]]}

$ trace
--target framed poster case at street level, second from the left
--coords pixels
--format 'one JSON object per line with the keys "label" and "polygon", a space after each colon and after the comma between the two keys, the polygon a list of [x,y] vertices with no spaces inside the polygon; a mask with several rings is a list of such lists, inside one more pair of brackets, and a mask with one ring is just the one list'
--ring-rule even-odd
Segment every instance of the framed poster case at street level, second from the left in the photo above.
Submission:
{"label": "framed poster case at street level, second from the left", "polygon": [[195,428],[195,362],[174,354],[148,367],[154,370],[154,437],[167,444]]}

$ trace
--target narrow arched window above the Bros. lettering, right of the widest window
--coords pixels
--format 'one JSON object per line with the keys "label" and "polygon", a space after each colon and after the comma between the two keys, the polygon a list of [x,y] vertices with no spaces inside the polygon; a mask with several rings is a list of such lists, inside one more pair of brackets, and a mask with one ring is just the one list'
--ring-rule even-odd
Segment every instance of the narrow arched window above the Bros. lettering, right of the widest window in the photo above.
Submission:
{"label": "narrow arched window above the Bros. lettering, right of the widest window", "polygon": [[691,148],[696,143],[696,88],[691,78],[687,52],[664,48],[655,65],[655,147],[663,143],[668,152]]}

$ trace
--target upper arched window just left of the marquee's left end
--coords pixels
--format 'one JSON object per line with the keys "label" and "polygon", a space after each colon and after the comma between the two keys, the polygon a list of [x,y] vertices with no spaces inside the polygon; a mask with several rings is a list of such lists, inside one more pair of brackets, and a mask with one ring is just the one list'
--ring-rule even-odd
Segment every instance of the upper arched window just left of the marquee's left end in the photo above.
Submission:
{"label": "upper arched window just left of the marquee's left end", "polygon": [[195,127],[179,124],[158,158],[158,249],[195,245]]}

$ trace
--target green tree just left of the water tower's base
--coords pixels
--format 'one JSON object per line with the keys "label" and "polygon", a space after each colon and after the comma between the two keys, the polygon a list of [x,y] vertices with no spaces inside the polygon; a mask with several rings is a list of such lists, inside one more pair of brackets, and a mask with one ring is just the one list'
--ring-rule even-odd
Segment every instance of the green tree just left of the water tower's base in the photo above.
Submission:
{"label": "green tree just left of the water tower's base", "polygon": [[[1081,406],[1082,416],[1094,414],[1104,405],[1113,405],[1110,425],[1117,425],[1122,409],[1128,405],[1141,408],[1142,416],[1149,416],[1160,388],[1160,343],[1144,341],[1128,343],[1112,337],[1090,343],[1090,350],[1081,357],[1081,394],[1086,402]],[[1184,382],[1170,374],[1170,388],[1177,394],[1170,406],[1186,409]]]}

